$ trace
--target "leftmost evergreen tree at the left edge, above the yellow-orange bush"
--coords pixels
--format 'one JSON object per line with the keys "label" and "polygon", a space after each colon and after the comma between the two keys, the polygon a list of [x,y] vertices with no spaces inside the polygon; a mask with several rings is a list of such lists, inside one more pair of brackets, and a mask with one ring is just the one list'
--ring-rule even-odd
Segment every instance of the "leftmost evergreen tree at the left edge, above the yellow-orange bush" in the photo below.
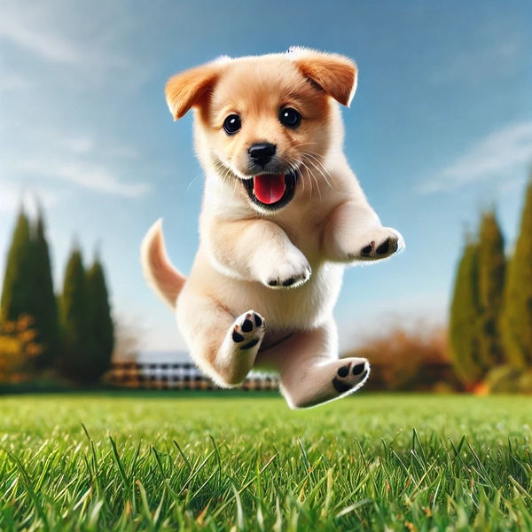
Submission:
{"label": "leftmost evergreen tree at the left edge, above the yellow-orange bush", "polygon": [[4,286],[0,309],[4,319],[17,321],[31,308],[32,299],[32,243],[29,222],[24,210],[20,209],[19,218],[13,232],[12,245],[7,255]]}

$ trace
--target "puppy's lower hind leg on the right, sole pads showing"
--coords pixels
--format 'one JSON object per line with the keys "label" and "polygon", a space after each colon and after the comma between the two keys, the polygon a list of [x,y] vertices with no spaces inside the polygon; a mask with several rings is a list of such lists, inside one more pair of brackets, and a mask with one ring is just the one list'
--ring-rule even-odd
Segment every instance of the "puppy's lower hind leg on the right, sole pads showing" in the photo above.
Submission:
{"label": "puppy's lower hind leg on the right, sole pads showing", "polygon": [[309,408],[352,394],[370,374],[365,358],[338,358],[336,325],[297,332],[259,354],[257,365],[277,366],[281,393],[292,409]]}

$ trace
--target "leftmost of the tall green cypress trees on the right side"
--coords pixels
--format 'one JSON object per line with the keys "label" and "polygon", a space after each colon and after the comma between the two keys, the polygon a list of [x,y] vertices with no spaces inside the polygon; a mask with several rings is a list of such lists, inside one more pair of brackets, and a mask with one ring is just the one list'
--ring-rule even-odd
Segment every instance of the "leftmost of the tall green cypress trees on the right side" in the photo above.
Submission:
{"label": "leftmost of the tall green cypress trees on the right side", "polygon": [[458,263],[454,294],[450,307],[450,352],[458,378],[465,386],[481,380],[479,338],[479,246],[467,237],[464,254]]}

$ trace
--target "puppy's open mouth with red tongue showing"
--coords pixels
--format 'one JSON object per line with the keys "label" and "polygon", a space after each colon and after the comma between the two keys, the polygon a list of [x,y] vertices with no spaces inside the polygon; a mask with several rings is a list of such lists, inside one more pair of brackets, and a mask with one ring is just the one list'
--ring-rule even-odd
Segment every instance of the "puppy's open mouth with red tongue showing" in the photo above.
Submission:
{"label": "puppy's open mouth with red tongue showing", "polygon": [[252,179],[242,180],[242,183],[249,199],[255,205],[269,210],[277,210],[285,207],[293,200],[297,177],[295,172],[262,174],[261,176],[254,176]]}

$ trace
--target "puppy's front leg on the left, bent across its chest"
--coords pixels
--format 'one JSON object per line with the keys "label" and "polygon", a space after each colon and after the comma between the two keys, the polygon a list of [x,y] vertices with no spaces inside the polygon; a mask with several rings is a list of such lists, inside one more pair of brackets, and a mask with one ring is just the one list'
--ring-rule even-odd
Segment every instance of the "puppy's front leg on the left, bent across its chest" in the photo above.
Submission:
{"label": "puppy's front leg on the left, bent across its chest", "polygon": [[310,278],[305,255],[276,223],[213,220],[206,231],[209,260],[225,275],[270,288],[300,286]]}

